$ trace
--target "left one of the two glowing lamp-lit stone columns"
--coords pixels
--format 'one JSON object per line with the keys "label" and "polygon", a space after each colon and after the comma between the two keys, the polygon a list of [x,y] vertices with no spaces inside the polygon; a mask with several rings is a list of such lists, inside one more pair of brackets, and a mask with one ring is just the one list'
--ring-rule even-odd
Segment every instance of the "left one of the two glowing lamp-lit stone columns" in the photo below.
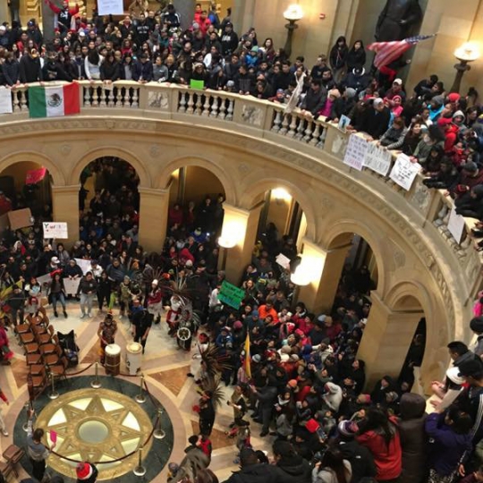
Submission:
{"label": "left one of the two glowing lamp-lit stone columns", "polygon": [[236,244],[231,249],[222,249],[220,261],[224,258],[223,250],[226,251],[225,273],[228,282],[239,284],[243,270],[251,262],[253,246],[258,230],[258,220],[264,202],[250,210],[233,207],[224,203],[225,217],[223,219],[222,237],[233,239]]}

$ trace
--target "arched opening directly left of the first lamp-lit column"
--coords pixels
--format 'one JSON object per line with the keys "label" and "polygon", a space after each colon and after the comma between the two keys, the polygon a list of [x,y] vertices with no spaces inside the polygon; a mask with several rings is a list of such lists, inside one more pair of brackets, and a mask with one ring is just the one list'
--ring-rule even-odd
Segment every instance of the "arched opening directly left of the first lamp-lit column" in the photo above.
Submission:
{"label": "arched opening directly left of the first lamp-lit column", "polygon": [[223,224],[225,188],[216,174],[199,165],[176,169],[169,183],[168,236],[196,233],[214,240]]}

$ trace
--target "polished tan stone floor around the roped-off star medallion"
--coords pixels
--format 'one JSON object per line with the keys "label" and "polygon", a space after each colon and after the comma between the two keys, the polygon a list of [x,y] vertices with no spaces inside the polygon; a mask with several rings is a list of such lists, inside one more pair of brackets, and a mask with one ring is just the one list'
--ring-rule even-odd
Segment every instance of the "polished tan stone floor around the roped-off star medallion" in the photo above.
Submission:
{"label": "polished tan stone floor around the roped-off star medallion", "polygon": [[[80,310],[77,302],[69,302],[67,311],[69,318],[54,318],[52,316],[50,322],[54,325],[55,330],[66,333],[73,328],[77,335],[77,343],[80,346],[80,364],[77,368],[70,369],[70,372],[86,369],[82,377],[78,377],[77,380],[81,380],[83,377],[93,377],[94,365],[91,364],[98,360],[99,351],[97,327],[103,316],[102,314],[97,314],[92,319],[80,319]],[[50,317],[52,310],[47,309],[47,313]],[[114,318],[116,315],[117,311],[114,310]],[[114,387],[116,384],[114,381],[116,379],[124,379],[133,385],[138,385],[140,377],[129,377],[124,364],[125,347],[132,340],[129,322],[125,318],[117,318],[117,320],[119,330],[115,342],[122,348],[121,372],[124,376],[119,376],[114,379],[112,377],[106,377],[106,380],[112,380]],[[28,368],[25,363],[25,358],[23,357],[21,347],[19,347],[13,337],[12,331],[9,331],[8,334],[11,338],[15,358],[11,366],[0,367],[0,387],[10,400],[10,405],[7,406],[2,402],[0,406],[5,416],[7,429],[10,432],[10,436],[0,436],[2,453],[6,446],[13,442],[13,438],[17,445],[21,445],[21,442],[25,441],[25,433],[21,430],[21,424],[23,424],[23,407],[28,400],[26,386]],[[169,457],[170,462],[181,462],[184,454],[183,450],[187,446],[187,438],[192,434],[196,434],[198,431],[198,415],[192,411],[193,404],[198,401],[198,394],[196,393],[196,386],[193,379],[186,377],[186,374],[190,372],[190,364],[191,353],[177,349],[174,339],[167,335],[165,323],[162,322],[159,326],[153,326],[148,336],[146,353],[143,356],[141,370],[146,378],[149,391],[165,407],[165,411],[172,422],[174,437],[172,451]],[[99,369],[100,371],[103,371],[103,369]],[[59,392],[72,390],[75,385],[80,383],[74,383],[74,379],[72,378],[70,382],[63,384],[65,387],[59,386]],[[78,388],[78,386],[75,387],[75,389]],[[120,386],[117,387],[117,390],[124,393],[124,390]],[[225,388],[226,399],[229,398],[232,391],[232,387]],[[16,423],[19,415],[20,419]],[[232,420],[232,411],[227,405],[219,408],[216,413],[215,427],[211,436],[214,452],[210,468],[216,472],[220,481],[228,478],[231,472],[238,468],[237,465],[233,464],[233,457],[236,453],[234,441],[225,436],[225,430]],[[13,431],[14,426],[16,426],[15,431]],[[259,432],[259,425],[252,423],[252,445],[257,449],[269,450],[271,438],[259,438]],[[54,457],[54,455],[50,456],[50,458]],[[159,468],[162,464],[164,462],[160,462],[156,466]],[[148,466],[152,467],[154,465],[151,464]],[[25,478],[25,470],[21,468],[19,470],[21,470],[20,479]],[[129,473],[123,477],[123,482],[128,483],[143,480],[164,483],[167,469],[164,468],[160,473],[157,471],[156,473],[157,476],[151,472],[142,478]]]}

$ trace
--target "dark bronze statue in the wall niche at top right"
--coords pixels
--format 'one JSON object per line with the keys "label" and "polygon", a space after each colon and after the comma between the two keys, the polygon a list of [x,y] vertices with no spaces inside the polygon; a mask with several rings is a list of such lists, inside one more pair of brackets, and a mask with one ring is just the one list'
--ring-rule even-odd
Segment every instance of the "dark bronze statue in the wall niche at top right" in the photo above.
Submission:
{"label": "dark bronze statue in the wall niche at top right", "polygon": [[391,42],[408,37],[411,26],[422,18],[419,0],[387,0],[376,26],[377,42]]}

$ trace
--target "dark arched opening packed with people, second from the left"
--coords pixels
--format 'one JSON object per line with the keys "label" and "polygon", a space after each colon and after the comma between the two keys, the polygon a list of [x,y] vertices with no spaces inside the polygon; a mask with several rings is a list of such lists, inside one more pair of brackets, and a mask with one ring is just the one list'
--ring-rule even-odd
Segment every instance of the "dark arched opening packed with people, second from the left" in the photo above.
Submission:
{"label": "dark arched opening packed with people, second from the left", "polygon": [[120,157],[98,157],[80,173],[80,240],[121,240],[131,233],[137,242],[140,220],[140,177]]}

